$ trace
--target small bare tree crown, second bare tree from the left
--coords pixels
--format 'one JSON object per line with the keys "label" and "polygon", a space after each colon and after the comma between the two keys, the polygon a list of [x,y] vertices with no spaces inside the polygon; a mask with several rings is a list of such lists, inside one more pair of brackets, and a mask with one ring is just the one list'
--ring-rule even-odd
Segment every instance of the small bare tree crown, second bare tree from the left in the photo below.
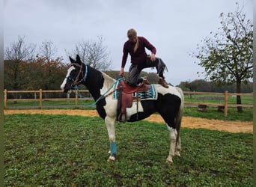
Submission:
{"label": "small bare tree crown, second bare tree from the left", "polygon": [[46,61],[51,61],[56,52],[58,52],[58,49],[53,46],[53,43],[51,41],[42,42],[39,53],[41,57],[46,58]]}

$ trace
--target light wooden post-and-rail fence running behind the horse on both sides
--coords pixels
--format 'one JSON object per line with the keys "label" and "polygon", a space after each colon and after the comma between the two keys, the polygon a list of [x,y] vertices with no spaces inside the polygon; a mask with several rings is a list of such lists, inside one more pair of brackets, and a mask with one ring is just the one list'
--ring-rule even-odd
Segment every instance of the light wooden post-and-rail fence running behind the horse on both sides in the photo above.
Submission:
{"label": "light wooden post-and-rail fence running behind the horse on both sides", "polygon": [[[79,105],[79,94],[78,91],[75,91],[75,96],[73,98],[70,98],[70,94],[67,94],[67,98],[46,98],[43,97],[43,93],[62,93],[63,91],[43,91],[42,89],[40,89],[39,91],[7,91],[6,89],[4,90],[4,108],[7,108],[7,101],[13,101],[13,102],[20,102],[20,101],[38,101],[39,105],[38,108],[42,108],[43,107],[43,101],[44,100],[55,100],[55,101],[61,101],[61,100],[66,100],[66,101],[70,101],[70,100],[75,100],[75,105]],[[32,93],[34,94],[34,98],[31,99],[22,99],[22,98],[14,98],[14,99],[8,99],[7,94],[8,93],[13,93],[13,94],[18,94],[18,93]],[[79,93],[89,93],[88,90],[79,90]],[[223,109],[224,115],[227,116],[228,115],[228,107],[237,107],[237,106],[241,106],[241,107],[253,107],[252,104],[231,104],[228,103],[228,96],[252,96],[252,93],[228,93],[228,91],[225,91],[225,93],[215,93],[215,92],[195,92],[195,91],[183,91],[185,96],[195,96],[198,94],[204,94],[204,95],[211,95],[212,97],[199,97],[198,98],[198,102],[187,102],[185,101],[185,105],[203,105],[203,106],[217,106],[219,108]],[[37,96],[38,95],[38,96]],[[213,97],[213,95],[217,95],[217,96],[223,96],[223,97]],[[223,99],[224,98],[224,99]],[[82,99],[90,99],[92,100],[92,98],[89,96],[87,98],[82,98]],[[213,102],[204,102],[204,100],[209,100],[209,99],[219,99],[219,103],[213,103]],[[222,102],[221,102],[222,101]]]}

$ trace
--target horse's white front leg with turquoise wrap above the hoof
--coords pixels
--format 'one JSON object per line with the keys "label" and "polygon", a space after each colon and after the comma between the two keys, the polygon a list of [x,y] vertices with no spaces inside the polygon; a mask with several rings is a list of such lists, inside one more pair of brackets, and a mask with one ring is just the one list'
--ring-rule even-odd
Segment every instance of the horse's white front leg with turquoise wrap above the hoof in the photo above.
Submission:
{"label": "horse's white front leg with turquoise wrap above the hoof", "polygon": [[110,156],[109,161],[115,161],[115,156],[117,155],[117,144],[115,142],[115,117],[106,117],[105,118],[106,128],[109,133],[109,142],[110,142]]}

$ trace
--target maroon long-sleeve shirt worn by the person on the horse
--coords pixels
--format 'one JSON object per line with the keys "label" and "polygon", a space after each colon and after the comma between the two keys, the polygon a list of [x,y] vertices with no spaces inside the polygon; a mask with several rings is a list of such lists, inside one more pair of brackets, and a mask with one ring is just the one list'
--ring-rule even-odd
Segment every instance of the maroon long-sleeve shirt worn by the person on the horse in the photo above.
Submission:
{"label": "maroon long-sleeve shirt worn by the person on the horse", "polygon": [[131,56],[132,64],[143,64],[144,61],[146,61],[147,53],[145,51],[145,48],[147,48],[153,54],[156,55],[156,48],[146,38],[138,37],[138,41],[139,41],[139,44],[138,44],[138,49],[136,50],[136,52],[133,52],[135,43],[132,43],[129,40],[127,40],[127,42],[124,43],[121,67],[125,67],[125,64],[127,64],[128,53]]}

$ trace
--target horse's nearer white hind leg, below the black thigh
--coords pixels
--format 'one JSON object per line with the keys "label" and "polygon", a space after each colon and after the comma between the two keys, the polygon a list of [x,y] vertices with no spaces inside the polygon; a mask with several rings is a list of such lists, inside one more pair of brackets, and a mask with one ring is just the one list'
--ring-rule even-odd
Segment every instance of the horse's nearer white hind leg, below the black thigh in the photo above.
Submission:
{"label": "horse's nearer white hind leg, below the black thigh", "polygon": [[169,136],[170,136],[170,151],[169,155],[166,159],[166,163],[172,164],[172,158],[175,156],[175,151],[176,151],[176,141],[177,141],[177,130],[166,125],[169,131]]}

